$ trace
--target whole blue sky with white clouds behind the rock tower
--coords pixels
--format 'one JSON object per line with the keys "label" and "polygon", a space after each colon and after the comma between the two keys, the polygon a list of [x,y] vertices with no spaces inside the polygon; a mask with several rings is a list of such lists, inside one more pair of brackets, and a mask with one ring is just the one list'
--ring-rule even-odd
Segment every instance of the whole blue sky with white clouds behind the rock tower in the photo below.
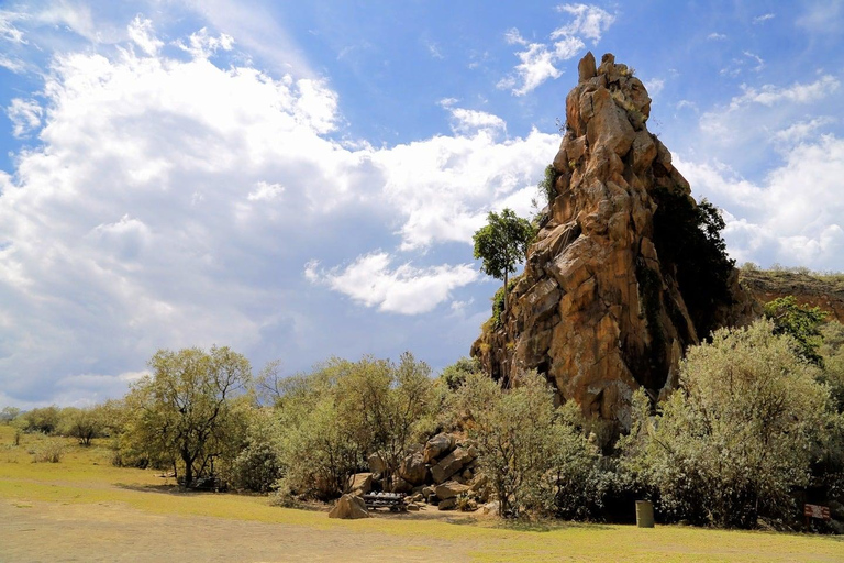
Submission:
{"label": "whole blue sky with white clouds behind the rock tower", "polygon": [[844,269],[844,1],[0,1],[0,406],[123,395],[158,349],[436,372],[499,282],[587,51],[738,262]]}

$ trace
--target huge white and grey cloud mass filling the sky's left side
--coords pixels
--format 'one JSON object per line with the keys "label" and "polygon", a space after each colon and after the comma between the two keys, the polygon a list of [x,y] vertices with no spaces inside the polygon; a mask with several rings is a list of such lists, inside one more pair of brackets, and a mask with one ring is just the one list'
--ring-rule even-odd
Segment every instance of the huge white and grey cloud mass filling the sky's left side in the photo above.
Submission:
{"label": "huge white and grey cloud mass filling the sky's left side", "polygon": [[[468,301],[479,279],[463,263],[471,233],[490,209],[535,190],[559,143],[538,131],[510,137],[499,117],[456,101],[444,104],[451,134],[334,141],[343,119],[326,80],[216,66],[209,54],[231,44],[209,31],[182,40],[187,58],[170,58],[144,22],[132,23],[134,49],[55,56],[41,89],[49,112],[25,99],[15,110],[41,144],[0,173],[8,402],[73,402],[92,382],[116,394],[121,374],[158,347],[298,357],[316,346],[310,358],[407,347],[397,339],[412,334],[380,328],[377,345],[354,347],[366,342],[353,331],[326,352],[313,301],[343,295],[402,314]],[[373,252],[385,241],[395,250]],[[429,253],[449,243],[460,247],[454,260]],[[355,256],[302,276],[310,260]]]}

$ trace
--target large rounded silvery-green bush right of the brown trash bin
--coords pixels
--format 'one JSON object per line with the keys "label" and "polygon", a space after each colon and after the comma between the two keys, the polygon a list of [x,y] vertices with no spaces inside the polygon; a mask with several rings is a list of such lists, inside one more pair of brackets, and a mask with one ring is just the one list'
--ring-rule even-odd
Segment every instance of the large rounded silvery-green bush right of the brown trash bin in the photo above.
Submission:
{"label": "large rounded silvery-green bush right of the brown trash bin", "polygon": [[787,516],[792,488],[809,483],[829,395],[793,340],[773,330],[766,320],[721,329],[689,349],[680,389],[656,419],[636,391],[624,465],[669,517],[751,528]]}

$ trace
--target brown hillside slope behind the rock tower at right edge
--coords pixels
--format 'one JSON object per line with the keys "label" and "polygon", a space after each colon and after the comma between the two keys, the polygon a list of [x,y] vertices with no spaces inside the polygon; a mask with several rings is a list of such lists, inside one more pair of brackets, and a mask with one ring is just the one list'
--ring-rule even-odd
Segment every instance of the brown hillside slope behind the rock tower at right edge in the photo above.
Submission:
{"label": "brown hillside slope behind the rock tower at right edge", "polygon": [[742,266],[738,279],[759,303],[795,296],[800,305],[819,307],[844,322],[844,273],[819,273],[808,268],[756,269]]}

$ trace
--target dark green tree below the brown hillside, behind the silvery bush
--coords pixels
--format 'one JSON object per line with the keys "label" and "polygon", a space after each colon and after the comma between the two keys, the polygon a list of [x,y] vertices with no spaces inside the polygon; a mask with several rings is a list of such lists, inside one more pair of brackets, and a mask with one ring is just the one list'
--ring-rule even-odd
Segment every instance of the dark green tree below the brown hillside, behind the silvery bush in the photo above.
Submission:
{"label": "dark green tree below the brown hillside, behind the silvery bush", "polygon": [[774,321],[776,334],[788,334],[795,339],[800,357],[815,365],[822,365],[818,353],[821,345],[821,323],[826,313],[818,307],[803,307],[793,296],[780,297],[765,305],[765,317]]}

